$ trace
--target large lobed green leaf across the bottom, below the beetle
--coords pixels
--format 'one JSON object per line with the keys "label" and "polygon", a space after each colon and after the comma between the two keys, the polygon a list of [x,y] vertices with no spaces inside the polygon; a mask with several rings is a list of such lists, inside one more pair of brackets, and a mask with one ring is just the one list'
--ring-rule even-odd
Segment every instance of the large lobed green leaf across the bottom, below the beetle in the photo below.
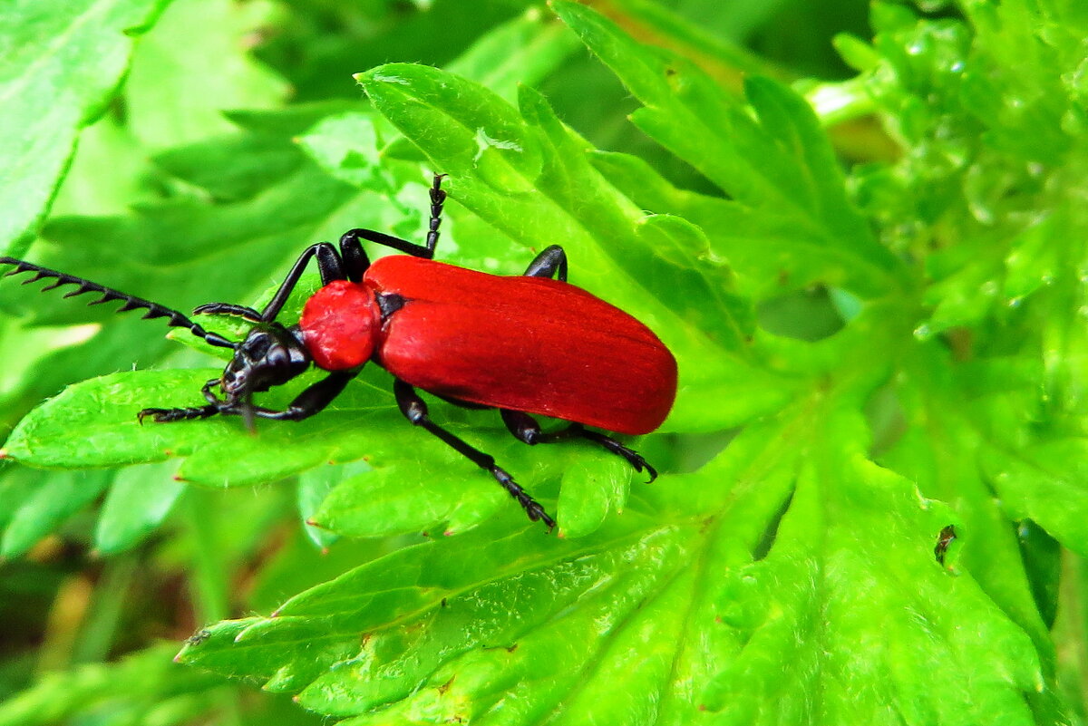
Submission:
{"label": "large lobed green leaf across the bottom, below the beetle", "polygon": [[[950,512],[836,443],[864,429],[856,415],[794,415],[656,490],[671,515],[640,505],[577,540],[490,527],[399,550],[269,617],[213,625],[178,658],[353,724],[487,723],[500,703],[516,704],[505,723],[994,710],[1033,723],[1026,693],[1044,685],[1031,639],[934,559]],[[827,422],[823,449],[795,446],[809,416]],[[944,666],[970,677],[950,686]],[[887,687],[855,685],[862,674]]]}

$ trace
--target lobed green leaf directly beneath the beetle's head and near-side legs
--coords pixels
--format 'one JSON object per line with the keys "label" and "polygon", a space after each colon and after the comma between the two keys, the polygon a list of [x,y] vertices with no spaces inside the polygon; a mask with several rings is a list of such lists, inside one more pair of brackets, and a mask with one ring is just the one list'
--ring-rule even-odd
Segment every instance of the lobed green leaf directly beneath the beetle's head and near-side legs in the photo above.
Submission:
{"label": "lobed green leaf directly beneath the beetle's head and near-side legs", "polygon": [[[364,459],[374,471],[341,481],[310,517],[323,529],[342,535],[376,537],[435,527],[453,534],[474,527],[496,512],[523,516],[490,474],[405,421],[393,402],[388,376],[380,372],[368,372],[362,381],[349,386],[321,415],[304,422],[258,420],[254,435],[248,435],[234,416],[171,424],[148,420],[141,425],[137,421],[137,412],[145,408],[199,404],[201,384],[214,376],[214,370],[141,371],[71,386],[21,422],[9,437],[4,453],[38,467],[168,462],[163,468],[176,467],[172,480],[207,487],[264,484]],[[314,380],[311,375],[297,387]],[[279,391],[271,404],[282,406],[295,395]],[[491,412],[458,415],[450,408],[441,411],[446,428],[493,453],[537,496],[548,492],[542,485],[555,480],[557,471],[586,454],[583,447],[569,443],[530,450],[505,429],[481,428],[487,418],[492,426],[498,425]],[[449,414],[454,414],[453,421]],[[471,425],[467,425],[469,418]],[[481,437],[486,446],[479,443]],[[180,464],[169,461],[178,458],[183,460]],[[615,477],[615,459],[609,455],[598,460],[590,468],[591,476]],[[519,465],[533,460],[546,464],[535,468]],[[619,463],[626,474],[628,464]],[[136,480],[141,474],[135,470],[122,476]],[[132,526],[143,526],[139,522],[146,522],[145,517],[164,515],[161,508],[168,506],[177,491],[168,485],[161,498],[152,491],[143,493],[149,506],[160,508],[154,510],[159,514],[127,512],[137,521]],[[615,498],[607,491],[594,496]],[[607,511],[608,504],[602,502],[566,506],[602,505]],[[120,513],[112,512],[108,501],[103,516],[113,518]],[[585,531],[589,525],[578,527],[576,531]],[[126,535],[120,529],[113,536],[134,537],[136,533]]]}

